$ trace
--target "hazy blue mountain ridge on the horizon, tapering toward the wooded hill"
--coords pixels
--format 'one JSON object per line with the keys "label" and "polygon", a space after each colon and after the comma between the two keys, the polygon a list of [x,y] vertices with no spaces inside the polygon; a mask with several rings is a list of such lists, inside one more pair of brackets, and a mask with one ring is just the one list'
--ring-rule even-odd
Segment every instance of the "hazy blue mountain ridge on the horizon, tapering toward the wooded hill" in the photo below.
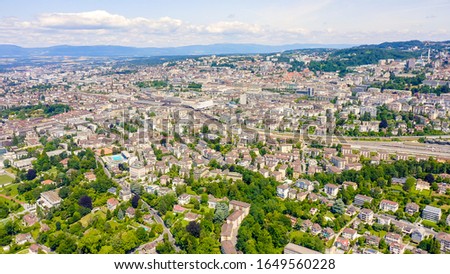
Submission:
{"label": "hazy blue mountain ridge on the horizon, tapering toward the wooded hill", "polygon": [[349,48],[345,44],[291,44],[291,45],[259,45],[259,44],[213,44],[192,45],[167,48],[137,48],[123,46],[54,46],[44,48],[22,48],[15,45],[0,45],[0,57],[31,56],[91,56],[91,57],[151,57],[175,55],[211,55],[211,54],[256,54],[282,52],[293,49],[310,48]]}

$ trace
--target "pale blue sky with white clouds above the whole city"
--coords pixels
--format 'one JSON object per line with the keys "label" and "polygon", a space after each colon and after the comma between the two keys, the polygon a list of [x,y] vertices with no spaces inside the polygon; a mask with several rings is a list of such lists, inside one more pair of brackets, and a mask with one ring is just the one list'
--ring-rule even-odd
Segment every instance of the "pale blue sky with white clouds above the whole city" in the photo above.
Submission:
{"label": "pale blue sky with white clouds above the whole city", "polygon": [[0,44],[374,44],[450,40],[450,0],[0,0]]}

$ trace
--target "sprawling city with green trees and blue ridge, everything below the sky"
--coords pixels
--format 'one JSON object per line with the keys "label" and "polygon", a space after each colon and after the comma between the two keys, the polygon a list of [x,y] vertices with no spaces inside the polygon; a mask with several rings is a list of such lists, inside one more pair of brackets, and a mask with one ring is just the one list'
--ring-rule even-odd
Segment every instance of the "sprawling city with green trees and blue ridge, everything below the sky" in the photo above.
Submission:
{"label": "sprawling city with green trees and blue ridge, everything below the sky", "polygon": [[450,253],[450,41],[240,42],[0,45],[0,254]]}

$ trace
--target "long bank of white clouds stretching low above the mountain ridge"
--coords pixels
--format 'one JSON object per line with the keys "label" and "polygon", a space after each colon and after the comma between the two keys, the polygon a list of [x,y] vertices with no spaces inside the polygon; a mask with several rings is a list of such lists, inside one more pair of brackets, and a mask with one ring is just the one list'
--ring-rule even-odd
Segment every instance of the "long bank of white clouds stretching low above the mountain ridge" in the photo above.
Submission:
{"label": "long bank of white clouds stretching low above the mountain ridge", "polygon": [[[332,1],[305,6],[305,11],[324,9]],[[290,11],[291,13],[294,10]],[[277,17],[279,14],[274,12]],[[280,14],[281,16],[281,14]],[[272,17],[270,20],[274,20]],[[289,16],[287,16],[289,17]],[[46,13],[35,20],[15,17],[0,18],[0,43],[22,46],[48,46],[58,44],[128,46],[180,46],[211,43],[378,43],[386,40],[443,40],[448,28],[441,25],[430,31],[409,24],[377,25],[375,29],[364,24],[347,28],[339,24],[308,24],[313,20],[306,15],[290,23],[270,24],[264,17],[261,22],[243,22],[234,18],[226,21],[191,23],[172,17],[125,17],[104,10],[80,13]],[[285,21],[289,21],[285,18]],[[384,18],[383,18],[384,19]],[[247,19],[248,20],[248,19]],[[282,22],[282,18],[279,20]],[[313,20],[316,22],[315,20]],[[380,20],[385,21],[385,20]],[[284,21],[283,21],[284,22]],[[372,24],[372,23],[371,23]]]}

